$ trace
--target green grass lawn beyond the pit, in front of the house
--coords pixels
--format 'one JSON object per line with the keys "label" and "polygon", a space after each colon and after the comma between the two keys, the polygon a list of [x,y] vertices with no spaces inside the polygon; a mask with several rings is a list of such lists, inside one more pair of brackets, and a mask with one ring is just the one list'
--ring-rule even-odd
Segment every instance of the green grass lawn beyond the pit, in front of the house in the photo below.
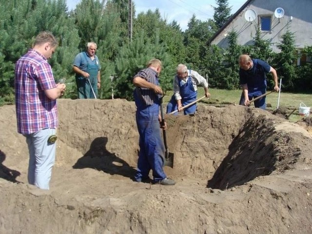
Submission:
{"label": "green grass lawn beyond the pit, in front of the house", "polygon": [[[242,93],[241,90],[222,90],[222,89],[209,89],[211,97],[207,99],[203,99],[201,102],[205,102],[208,104],[237,104],[239,102],[240,95]],[[267,91],[268,92],[268,91]],[[164,102],[168,102],[172,96],[172,91],[167,91],[166,96],[164,97]],[[204,89],[198,88],[197,98],[201,98],[204,96]],[[277,108],[278,102],[278,93],[271,93],[266,96],[267,97],[267,110],[275,111]],[[292,93],[280,93],[279,98],[279,108],[283,110],[287,110],[287,115],[292,112],[292,110],[296,109],[290,116],[289,120],[295,122],[302,117],[299,116],[299,106],[300,103],[306,104],[308,107],[312,107],[312,94],[292,94]],[[252,103],[251,106],[254,104]],[[302,104],[302,106],[304,106]]]}

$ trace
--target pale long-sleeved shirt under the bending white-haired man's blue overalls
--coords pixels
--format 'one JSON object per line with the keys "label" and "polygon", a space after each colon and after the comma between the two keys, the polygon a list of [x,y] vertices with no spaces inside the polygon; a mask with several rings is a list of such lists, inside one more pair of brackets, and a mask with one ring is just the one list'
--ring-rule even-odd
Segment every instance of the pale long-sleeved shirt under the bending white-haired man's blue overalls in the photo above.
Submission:
{"label": "pale long-sleeved shirt under the bending white-haired man's blue overalls", "polygon": [[[198,74],[198,72],[195,72],[193,70],[187,70],[187,77],[185,78],[185,80],[181,80],[182,84],[187,83],[188,79],[191,77],[192,79],[192,84],[194,87],[194,90],[197,91],[197,86],[202,86],[204,88],[208,88],[208,83],[207,80],[205,78],[203,78],[202,76],[200,76]],[[179,78],[176,75],[174,78],[174,82],[173,82],[173,86],[174,86],[174,95],[176,100],[181,100],[182,97],[180,96],[180,87],[179,87]]]}

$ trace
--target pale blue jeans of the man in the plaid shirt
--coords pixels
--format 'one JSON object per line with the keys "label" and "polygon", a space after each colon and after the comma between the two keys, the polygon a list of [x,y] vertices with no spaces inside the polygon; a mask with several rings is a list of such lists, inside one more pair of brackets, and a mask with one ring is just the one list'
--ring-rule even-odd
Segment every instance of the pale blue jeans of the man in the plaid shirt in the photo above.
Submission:
{"label": "pale blue jeans of the man in the plaid shirt", "polygon": [[55,134],[56,129],[46,128],[24,135],[29,150],[28,183],[40,189],[49,189],[55,162],[56,142],[49,143],[48,139]]}

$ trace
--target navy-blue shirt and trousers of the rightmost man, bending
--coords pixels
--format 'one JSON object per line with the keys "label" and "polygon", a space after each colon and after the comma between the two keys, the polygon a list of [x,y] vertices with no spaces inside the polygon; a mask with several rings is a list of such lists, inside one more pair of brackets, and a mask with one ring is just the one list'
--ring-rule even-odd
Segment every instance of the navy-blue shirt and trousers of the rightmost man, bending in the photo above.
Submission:
{"label": "navy-blue shirt and trousers of the rightmost man, bending", "polygon": [[[245,71],[242,68],[239,69],[239,78],[240,84],[247,84],[248,86],[248,99],[252,100],[253,98],[257,98],[262,94],[266,93],[267,90],[267,80],[266,80],[266,73],[270,72],[271,66],[266,62],[260,59],[252,59],[254,65],[253,67]],[[254,101],[254,107],[261,108],[265,110],[266,97],[260,98]],[[242,93],[239,105],[244,105],[245,97],[244,93]]]}

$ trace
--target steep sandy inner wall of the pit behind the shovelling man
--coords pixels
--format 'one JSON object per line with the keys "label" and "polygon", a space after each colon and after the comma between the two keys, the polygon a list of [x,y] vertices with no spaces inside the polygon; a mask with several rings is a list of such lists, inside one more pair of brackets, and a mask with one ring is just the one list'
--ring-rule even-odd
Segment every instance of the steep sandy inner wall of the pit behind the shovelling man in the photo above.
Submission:
{"label": "steep sandy inner wall of the pit behind the shovelling man", "polygon": [[[59,116],[59,139],[68,149],[58,151],[57,164],[67,163],[64,152],[75,149],[82,156],[74,169],[133,178],[139,150],[133,102],[60,100]],[[224,190],[287,169],[300,154],[291,144],[295,133],[275,130],[284,120],[259,109],[199,105],[194,117],[165,118],[168,149],[175,156],[174,169],[165,169],[177,180],[207,179],[207,187]]]}

